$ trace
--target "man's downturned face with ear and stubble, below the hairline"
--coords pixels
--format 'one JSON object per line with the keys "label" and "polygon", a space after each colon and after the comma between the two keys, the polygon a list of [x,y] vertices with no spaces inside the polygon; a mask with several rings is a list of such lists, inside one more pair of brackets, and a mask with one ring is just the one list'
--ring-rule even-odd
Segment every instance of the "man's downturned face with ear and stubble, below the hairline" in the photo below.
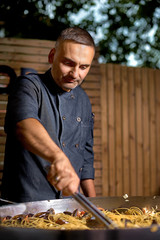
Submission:
{"label": "man's downturned face with ear and stubble, below the hairline", "polygon": [[53,48],[49,62],[57,85],[65,91],[80,85],[91,67],[94,53],[93,47],[68,40],[60,43],[56,49]]}

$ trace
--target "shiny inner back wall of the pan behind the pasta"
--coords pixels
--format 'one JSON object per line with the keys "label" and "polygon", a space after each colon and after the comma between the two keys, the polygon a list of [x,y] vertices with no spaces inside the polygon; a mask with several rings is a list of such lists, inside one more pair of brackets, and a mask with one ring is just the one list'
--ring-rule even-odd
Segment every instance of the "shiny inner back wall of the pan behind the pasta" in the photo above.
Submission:
{"label": "shiny inner back wall of the pan behind the pasta", "polygon": [[[127,199],[124,199],[123,197],[96,197],[89,198],[89,200],[97,207],[102,207],[108,210],[112,210],[118,207],[137,206],[140,208],[153,207],[160,211],[160,196],[129,197]],[[74,211],[76,208],[79,210],[84,210],[84,208],[74,198],[66,198],[6,205],[0,207],[0,216],[4,217],[6,215],[14,216],[16,214],[22,213],[37,213],[46,211],[51,207],[54,208],[56,213],[66,210]]]}

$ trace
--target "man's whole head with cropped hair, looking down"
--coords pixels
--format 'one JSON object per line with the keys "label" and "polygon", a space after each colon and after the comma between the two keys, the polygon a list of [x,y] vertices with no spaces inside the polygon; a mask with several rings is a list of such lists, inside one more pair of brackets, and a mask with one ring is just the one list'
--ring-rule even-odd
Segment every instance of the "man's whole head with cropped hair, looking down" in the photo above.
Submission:
{"label": "man's whole head with cropped hair, looking down", "polygon": [[86,77],[95,54],[90,34],[81,28],[67,28],[49,53],[52,77],[63,90],[70,91]]}

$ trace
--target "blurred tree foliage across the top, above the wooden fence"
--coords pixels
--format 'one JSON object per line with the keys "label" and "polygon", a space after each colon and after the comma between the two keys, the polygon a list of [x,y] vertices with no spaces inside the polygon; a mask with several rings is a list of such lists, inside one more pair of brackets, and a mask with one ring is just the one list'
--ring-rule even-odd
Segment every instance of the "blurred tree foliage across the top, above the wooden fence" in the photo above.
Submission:
{"label": "blurred tree foliage across the top, above the wooden fence", "polygon": [[0,0],[5,37],[55,40],[73,25],[98,39],[103,62],[127,65],[132,54],[138,66],[160,68],[160,0]]}

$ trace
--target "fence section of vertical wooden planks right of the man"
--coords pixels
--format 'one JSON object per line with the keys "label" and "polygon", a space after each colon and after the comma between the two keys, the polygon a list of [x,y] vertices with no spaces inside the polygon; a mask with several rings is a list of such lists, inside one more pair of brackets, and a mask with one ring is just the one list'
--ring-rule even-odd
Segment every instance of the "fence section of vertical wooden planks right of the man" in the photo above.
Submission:
{"label": "fence section of vertical wooden planks right of the man", "polygon": [[101,72],[102,193],[160,195],[160,70]]}

